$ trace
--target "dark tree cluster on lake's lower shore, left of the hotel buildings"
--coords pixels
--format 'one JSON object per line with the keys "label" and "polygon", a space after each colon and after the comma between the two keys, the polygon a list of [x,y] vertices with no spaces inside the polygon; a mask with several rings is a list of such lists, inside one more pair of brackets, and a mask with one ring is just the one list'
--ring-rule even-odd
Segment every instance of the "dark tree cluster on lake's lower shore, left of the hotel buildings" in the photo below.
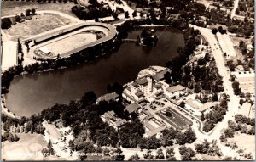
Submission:
{"label": "dark tree cluster on lake's lower shore, left of the hotel buildings", "polygon": [[[104,123],[100,117],[102,113],[108,111],[108,106],[112,109],[119,109],[120,103],[109,103],[107,108],[96,105],[96,95],[94,92],[85,92],[84,96],[76,102],[69,104],[55,104],[50,109],[44,109],[41,117],[44,120],[55,121],[61,119],[63,126],[73,128],[75,139],[70,142],[73,150],[84,148],[84,141],[90,139],[99,146],[113,146],[119,142],[117,131],[108,123]],[[124,108],[123,108],[124,109]]]}

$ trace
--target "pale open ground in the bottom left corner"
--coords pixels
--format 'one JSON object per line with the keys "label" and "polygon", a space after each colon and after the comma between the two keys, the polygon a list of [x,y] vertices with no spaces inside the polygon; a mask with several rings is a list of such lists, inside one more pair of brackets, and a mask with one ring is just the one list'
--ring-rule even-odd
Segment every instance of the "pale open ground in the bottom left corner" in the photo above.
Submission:
{"label": "pale open ground in the bottom left corner", "polygon": [[17,133],[18,142],[2,142],[2,159],[8,160],[44,160],[41,152],[47,147],[44,137],[38,134]]}

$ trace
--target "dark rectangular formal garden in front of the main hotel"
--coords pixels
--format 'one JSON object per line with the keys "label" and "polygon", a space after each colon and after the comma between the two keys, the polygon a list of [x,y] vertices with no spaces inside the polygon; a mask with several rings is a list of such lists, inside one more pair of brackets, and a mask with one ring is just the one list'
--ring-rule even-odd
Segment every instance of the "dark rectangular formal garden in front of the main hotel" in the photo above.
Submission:
{"label": "dark rectangular formal garden in front of the main hotel", "polygon": [[156,115],[159,115],[160,118],[166,120],[170,125],[174,127],[178,126],[181,129],[185,129],[186,127],[189,127],[189,125],[192,125],[191,121],[186,119],[183,115],[179,114],[176,110],[172,108],[166,108],[166,115],[162,112],[158,112],[156,113]]}

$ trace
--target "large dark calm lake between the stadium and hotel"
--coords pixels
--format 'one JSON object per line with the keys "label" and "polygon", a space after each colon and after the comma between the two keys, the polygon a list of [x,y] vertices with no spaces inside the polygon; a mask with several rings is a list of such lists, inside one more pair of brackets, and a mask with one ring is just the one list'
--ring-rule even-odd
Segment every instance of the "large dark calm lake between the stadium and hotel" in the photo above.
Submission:
{"label": "large dark calm lake between the stadium and hotel", "polygon": [[[177,55],[177,47],[183,46],[183,33],[170,27],[154,30],[160,36],[156,47],[124,43],[118,52],[90,64],[15,77],[7,95],[8,109],[16,115],[38,114],[55,103],[69,103],[80,98],[84,92],[94,91],[100,96],[107,92],[108,83],[125,84],[150,65],[165,65]],[[129,38],[137,38],[141,31],[132,31]]]}

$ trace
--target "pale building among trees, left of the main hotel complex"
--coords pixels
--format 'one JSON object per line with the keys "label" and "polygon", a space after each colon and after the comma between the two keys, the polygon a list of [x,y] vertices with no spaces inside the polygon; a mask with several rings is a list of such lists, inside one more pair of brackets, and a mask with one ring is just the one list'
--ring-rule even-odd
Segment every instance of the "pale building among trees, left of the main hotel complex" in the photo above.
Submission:
{"label": "pale building among trees, left of the main hotel complex", "polygon": [[108,122],[109,126],[113,126],[115,130],[118,130],[120,126],[125,125],[127,122],[125,119],[120,119],[117,117],[113,110],[104,113],[101,118],[104,122]]}

